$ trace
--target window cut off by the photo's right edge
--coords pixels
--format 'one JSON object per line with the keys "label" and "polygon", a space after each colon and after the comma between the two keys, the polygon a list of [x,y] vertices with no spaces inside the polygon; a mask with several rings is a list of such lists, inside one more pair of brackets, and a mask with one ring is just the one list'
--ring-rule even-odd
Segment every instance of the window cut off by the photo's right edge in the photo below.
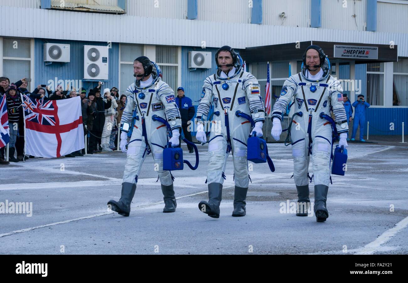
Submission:
{"label": "window cut off by the photo's right edge", "polygon": [[392,106],[408,106],[408,59],[394,62]]}

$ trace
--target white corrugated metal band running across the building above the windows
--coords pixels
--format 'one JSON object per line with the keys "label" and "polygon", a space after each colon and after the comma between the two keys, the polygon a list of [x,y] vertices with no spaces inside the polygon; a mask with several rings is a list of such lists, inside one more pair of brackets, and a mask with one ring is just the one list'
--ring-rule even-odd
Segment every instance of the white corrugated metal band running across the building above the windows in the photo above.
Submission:
{"label": "white corrugated metal band running across the building above the windows", "polygon": [[[221,29],[220,22],[198,20],[148,18],[106,13],[84,13],[2,7],[0,36],[25,38],[55,38],[122,42],[151,45],[220,47],[230,45],[244,49],[302,41],[333,41],[398,45],[398,56],[408,57],[408,33],[379,31],[348,31],[308,27],[282,27],[228,23]],[[25,21],[15,21],[18,14]],[[41,19],[41,20],[38,20]],[[30,22],[30,25],[26,23]],[[151,32],[137,32],[140,22]],[[236,32],[231,32],[236,31]],[[301,47],[303,48],[303,47]]]}

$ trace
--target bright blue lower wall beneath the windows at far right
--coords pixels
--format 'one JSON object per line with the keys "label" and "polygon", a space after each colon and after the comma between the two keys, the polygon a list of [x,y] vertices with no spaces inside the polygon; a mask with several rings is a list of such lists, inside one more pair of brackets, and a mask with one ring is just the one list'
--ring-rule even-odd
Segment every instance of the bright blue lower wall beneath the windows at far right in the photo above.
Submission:
{"label": "bright blue lower wall beneath the windows at far right", "polygon": [[[368,108],[366,111],[366,125],[364,135],[367,134],[367,122],[370,122],[368,134],[371,135],[402,135],[402,122],[404,134],[408,134],[408,108]],[[390,130],[390,123],[394,123],[394,130]]]}

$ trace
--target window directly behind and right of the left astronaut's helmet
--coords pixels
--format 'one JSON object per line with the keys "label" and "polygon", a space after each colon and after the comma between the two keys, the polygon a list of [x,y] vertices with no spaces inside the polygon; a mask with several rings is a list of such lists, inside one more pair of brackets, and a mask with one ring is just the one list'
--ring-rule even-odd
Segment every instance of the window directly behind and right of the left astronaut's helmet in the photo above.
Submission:
{"label": "window directly behind and right of the left astronaut's helmet", "polygon": [[174,92],[178,84],[178,47],[156,46],[156,64],[162,69],[163,81],[166,82]]}

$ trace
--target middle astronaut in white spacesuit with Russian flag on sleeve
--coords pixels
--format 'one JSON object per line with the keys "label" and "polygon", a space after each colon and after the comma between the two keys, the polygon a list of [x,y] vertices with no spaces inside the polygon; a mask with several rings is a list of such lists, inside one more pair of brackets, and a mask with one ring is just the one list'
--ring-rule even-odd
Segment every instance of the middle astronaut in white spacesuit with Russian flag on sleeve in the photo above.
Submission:
{"label": "middle astronaut in white spacesuit with Russian flag on sleeve", "polygon": [[[237,110],[251,115],[253,131],[262,136],[265,120],[264,103],[260,96],[257,79],[242,68],[241,57],[229,46],[223,46],[215,54],[217,72],[204,80],[200,104],[197,108],[197,135],[202,143],[207,142],[204,122],[214,103],[214,116],[208,144],[208,197],[199,203],[199,209],[213,218],[220,217],[222,184],[226,160],[232,150],[234,164],[234,210],[233,216],[245,216],[248,192],[247,139],[251,134],[251,123],[237,117]],[[217,131],[218,129],[218,131]]]}

